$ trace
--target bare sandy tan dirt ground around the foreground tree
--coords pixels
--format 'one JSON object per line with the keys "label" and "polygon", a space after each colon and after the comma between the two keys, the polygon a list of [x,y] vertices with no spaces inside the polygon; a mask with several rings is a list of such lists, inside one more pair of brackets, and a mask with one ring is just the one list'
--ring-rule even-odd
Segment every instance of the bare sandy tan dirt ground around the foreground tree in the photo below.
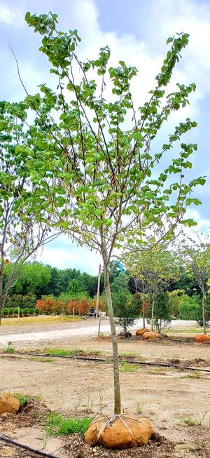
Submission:
{"label": "bare sandy tan dirt ground around the foreground tree", "polygon": [[[104,323],[107,325],[107,322]],[[35,326],[35,328],[34,328]],[[44,325],[45,326],[45,325]],[[97,339],[88,336],[92,321],[81,323],[50,324],[51,331],[71,330],[66,337],[52,340],[30,341],[30,333],[40,332],[36,325],[1,328],[1,337],[8,335],[27,335],[25,341],[14,342],[15,349],[29,349],[40,353],[45,347],[63,349],[80,348],[100,350],[104,355],[111,355],[111,341],[108,337]],[[86,328],[86,335],[83,335]],[[49,330],[41,328],[41,332]],[[74,331],[74,332],[73,332]],[[176,333],[177,335],[177,333]],[[49,336],[48,336],[49,337]],[[13,339],[10,339],[13,342]],[[5,346],[1,342],[1,346]],[[190,361],[191,366],[210,370],[210,346],[185,342],[143,342],[142,340],[120,340],[119,353],[135,351],[146,361],[169,361],[179,359]],[[199,366],[199,359],[203,359]],[[80,436],[59,438],[47,437],[45,427],[39,421],[45,410],[52,410],[68,416],[93,416],[102,404],[113,398],[112,365],[96,361],[78,361],[64,358],[51,358],[41,361],[31,355],[13,353],[0,355],[1,392],[10,391],[39,396],[39,403],[32,404],[15,419],[11,416],[0,418],[0,434],[10,436],[20,443],[31,445],[45,452],[54,452],[59,447],[69,444],[64,450],[57,450],[57,457],[209,457],[210,456],[210,372],[189,372],[183,367],[160,368],[140,366],[133,372],[120,372],[122,402],[126,412],[132,414],[141,411],[151,419],[153,430],[159,433],[165,442],[151,443],[150,447],[129,452],[107,452],[99,447],[90,449],[83,445]],[[194,360],[194,361],[193,361]],[[193,378],[190,378],[192,377]],[[44,404],[43,407],[42,403]],[[32,415],[41,410],[40,414]],[[105,411],[111,412],[111,405]],[[188,425],[191,419],[193,426]],[[154,445],[155,444],[155,445]],[[158,445],[159,444],[159,445]],[[144,450],[145,449],[145,450]],[[148,450],[149,449],[149,450]],[[4,453],[4,452],[3,452]],[[108,453],[108,454],[107,454]],[[2,454],[2,457],[4,455]],[[15,456],[15,455],[6,455]],[[18,456],[18,455],[17,455]],[[31,456],[31,455],[26,455]],[[1,457],[1,450],[0,450]]]}

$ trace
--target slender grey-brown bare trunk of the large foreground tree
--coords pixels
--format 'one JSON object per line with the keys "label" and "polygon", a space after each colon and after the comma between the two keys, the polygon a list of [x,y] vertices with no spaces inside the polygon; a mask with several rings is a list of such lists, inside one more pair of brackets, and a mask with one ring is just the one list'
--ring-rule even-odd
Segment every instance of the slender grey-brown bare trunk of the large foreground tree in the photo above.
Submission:
{"label": "slender grey-brown bare trunk of the large foreground tree", "polygon": [[114,413],[120,414],[121,400],[120,400],[120,377],[118,367],[118,340],[116,334],[116,324],[113,318],[113,307],[111,300],[111,290],[109,283],[109,267],[104,263],[104,289],[106,292],[106,302],[109,311],[109,323],[111,327],[111,339],[113,349],[113,375],[114,375]]}

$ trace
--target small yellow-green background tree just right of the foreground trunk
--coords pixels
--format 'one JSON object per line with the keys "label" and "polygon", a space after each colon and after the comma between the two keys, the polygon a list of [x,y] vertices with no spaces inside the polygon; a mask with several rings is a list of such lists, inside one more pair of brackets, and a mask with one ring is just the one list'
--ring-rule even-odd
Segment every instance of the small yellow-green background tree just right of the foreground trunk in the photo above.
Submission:
{"label": "small yellow-green background tree just right of the foreground trunk", "polygon": [[[125,261],[131,274],[136,280],[137,289],[151,295],[151,329],[153,330],[155,299],[158,294],[168,288],[170,283],[179,278],[179,265],[174,253],[165,249],[164,245],[158,248],[148,248],[141,252],[132,252]],[[145,324],[144,324],[145,326]]]}

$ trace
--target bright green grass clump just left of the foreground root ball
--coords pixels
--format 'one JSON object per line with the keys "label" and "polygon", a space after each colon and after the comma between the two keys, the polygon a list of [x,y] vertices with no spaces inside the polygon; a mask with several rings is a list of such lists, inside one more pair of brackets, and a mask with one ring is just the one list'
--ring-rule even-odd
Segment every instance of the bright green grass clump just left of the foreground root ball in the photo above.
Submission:
{"label": "bright green grass clump just left of the foreground root ball", "polygon": [[69,436],[74,433],[84,436],[90,422],[92,422],[92,417],[64,419],[62,415],[51,413],[47,418],[45,431],[49,436]]}

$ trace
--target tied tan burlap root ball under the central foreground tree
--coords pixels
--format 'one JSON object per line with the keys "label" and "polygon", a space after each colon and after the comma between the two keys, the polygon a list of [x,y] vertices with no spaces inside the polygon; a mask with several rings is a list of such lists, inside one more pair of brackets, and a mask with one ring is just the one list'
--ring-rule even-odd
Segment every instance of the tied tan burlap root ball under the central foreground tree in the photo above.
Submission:
{"label": "tied tan burlap root ball under the central foreground tree", "polygon": [[122,450],[147,445],[153,430],[146,418],[130,415],[100,415],[95,418],[85,433],[85,442],[91,446]]}

